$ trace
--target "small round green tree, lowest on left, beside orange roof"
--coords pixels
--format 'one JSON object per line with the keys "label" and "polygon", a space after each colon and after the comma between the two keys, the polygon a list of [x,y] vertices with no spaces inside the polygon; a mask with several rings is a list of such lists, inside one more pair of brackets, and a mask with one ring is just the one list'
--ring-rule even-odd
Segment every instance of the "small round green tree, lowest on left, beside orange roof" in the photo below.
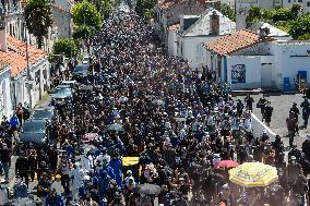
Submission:
{"label": "small round green tree, lowest on left, beside orange roof", "polygon": [[76,41],[70,38],[61,38],[58,39],[53,45],[55,54],[64,53],[65,57],[71,58],[73,54],[78,52]]}

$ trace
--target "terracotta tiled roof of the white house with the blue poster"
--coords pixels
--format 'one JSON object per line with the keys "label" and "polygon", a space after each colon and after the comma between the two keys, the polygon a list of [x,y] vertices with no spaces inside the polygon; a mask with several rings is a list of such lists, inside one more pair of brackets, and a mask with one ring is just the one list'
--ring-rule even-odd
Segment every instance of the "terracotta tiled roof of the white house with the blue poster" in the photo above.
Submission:
{"label": "terracotta tiled roof of the white house with the blue poster", "polygon": [[272,41],[274,38],[261,38],[258,34],[250,32],[248,29],[241,29],[230,35],[225,35],[220,38],[216,38],[208,43],[205,43],[204,46],[208,50],[213,50],[214,52],[226,56],[240,49],[245,49],[257,45],[262,41]]}

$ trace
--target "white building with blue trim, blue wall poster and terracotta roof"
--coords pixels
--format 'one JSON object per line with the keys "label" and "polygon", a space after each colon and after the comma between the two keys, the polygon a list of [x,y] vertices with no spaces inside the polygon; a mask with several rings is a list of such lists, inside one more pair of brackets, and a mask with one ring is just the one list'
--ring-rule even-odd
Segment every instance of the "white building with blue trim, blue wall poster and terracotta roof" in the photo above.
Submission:
{"label": "white building with blue trim, blue wall poster and terracotta roof", "polygon": [[[243,39],[243,41],[242,41]],[[230,43],[228,47],[223,47]],[[233,89],[295,87],[298,73],[310,82],[310,41],[278,40],[238,31],[205,45],[210,66]]]}

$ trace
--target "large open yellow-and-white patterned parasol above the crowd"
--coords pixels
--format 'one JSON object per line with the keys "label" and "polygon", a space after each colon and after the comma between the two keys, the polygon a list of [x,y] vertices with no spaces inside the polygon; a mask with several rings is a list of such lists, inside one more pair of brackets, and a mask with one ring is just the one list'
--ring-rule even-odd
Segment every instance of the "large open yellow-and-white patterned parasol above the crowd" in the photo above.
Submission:
{"label": "large open yellow-and-white patterned parasol above the crowd", "polygon": [[241,186],[266,186],[276,181],[275,167],[262,162],[246,162],[229,170],[229,180]]}

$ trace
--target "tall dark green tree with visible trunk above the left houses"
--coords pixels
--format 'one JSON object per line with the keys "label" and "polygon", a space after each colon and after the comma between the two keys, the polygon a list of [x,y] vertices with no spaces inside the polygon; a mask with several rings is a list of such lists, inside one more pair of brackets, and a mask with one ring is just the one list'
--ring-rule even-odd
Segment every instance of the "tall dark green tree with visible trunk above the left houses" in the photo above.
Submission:
{"label": "tall dark green tree with visible trunk above the left houses", "polygon": [[41,48],[43,37],[48,34],[52,25],[51,4],[48,0],[28,0],[25,7],[26,26],[37,38],[38,48]]}

